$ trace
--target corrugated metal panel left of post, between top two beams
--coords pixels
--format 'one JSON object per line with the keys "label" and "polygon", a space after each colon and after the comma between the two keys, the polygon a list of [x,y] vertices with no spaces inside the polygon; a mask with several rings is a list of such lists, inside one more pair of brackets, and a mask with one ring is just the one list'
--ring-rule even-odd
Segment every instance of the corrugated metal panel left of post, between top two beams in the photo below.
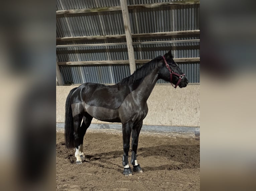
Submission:
{"label": "corrugated metal panel left of post, between top two beams", "polygon": [[115,34],[125,34],[121,10],[56,15],[56,37]]}

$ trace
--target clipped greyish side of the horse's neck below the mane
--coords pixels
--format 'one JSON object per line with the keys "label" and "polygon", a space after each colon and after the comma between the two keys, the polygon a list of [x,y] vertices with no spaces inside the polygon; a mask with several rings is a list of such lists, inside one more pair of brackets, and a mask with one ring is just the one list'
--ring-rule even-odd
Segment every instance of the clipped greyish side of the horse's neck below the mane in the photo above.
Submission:
{"label": "clipped greyish side of the horse's neck below the mane", "polygon": [[153,70],[149,75],[147,75],[141,84],[139,85],[136,94],[138,95],[137,99],[141,102],[147,101],[149,95],[153,91],[156,81],[158,79],[158,69]]}

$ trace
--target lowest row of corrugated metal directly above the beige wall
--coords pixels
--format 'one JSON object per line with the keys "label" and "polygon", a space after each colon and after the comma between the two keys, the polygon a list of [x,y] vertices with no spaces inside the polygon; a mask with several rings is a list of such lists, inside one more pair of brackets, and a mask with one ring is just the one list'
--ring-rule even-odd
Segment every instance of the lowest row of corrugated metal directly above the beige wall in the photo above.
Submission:
{"label": "lowest row of corrugated metal directly above the beige wall", "polygon": [[[143,64],[136,64],[136,69]],[[189,83],[200,83],[200,64],[182,63],[178,64],[181,71],[186,74]],[[100,84],[116,84],[123,78],[130,76],[128,65],[89,65],[89,66],[59,66],[65,84],[83,84],[86,82]],[[157,83],[168,83],[158,80]]]}

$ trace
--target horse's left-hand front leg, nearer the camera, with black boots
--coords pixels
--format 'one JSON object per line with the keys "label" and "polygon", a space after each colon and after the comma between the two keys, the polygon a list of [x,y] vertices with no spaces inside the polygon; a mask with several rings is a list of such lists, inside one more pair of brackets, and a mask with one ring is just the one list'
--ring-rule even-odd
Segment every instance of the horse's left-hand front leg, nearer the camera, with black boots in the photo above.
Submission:
{"label": "horse's left-hand front leg, nearer the camera, with black boots", "polygon": [[133,126],[132,122],[126,122],[126,123],[122,124],[123,145],[124,145],[124,154],[123,154],[124,171],[123,171],[123,174],[126,176],[132,175],[131,167],[129,167],[129,163],[128,163],[128,152],[130,149],[130,137],[131,137],[132,126]]}

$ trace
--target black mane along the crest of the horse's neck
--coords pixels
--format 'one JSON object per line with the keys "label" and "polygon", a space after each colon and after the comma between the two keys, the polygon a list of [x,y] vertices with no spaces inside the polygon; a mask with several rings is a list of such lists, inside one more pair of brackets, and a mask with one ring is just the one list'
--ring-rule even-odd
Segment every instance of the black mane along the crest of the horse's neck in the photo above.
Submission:
{"label": "black mane along the crest of the horse's neck", "polygon": [[154,58],[142,67],[138,68],[131,76],[124,78],[118,84],[118,86],[129,86],[138,80],[143,80],[155,67],[157,62],[161,59],[161,56]]}

